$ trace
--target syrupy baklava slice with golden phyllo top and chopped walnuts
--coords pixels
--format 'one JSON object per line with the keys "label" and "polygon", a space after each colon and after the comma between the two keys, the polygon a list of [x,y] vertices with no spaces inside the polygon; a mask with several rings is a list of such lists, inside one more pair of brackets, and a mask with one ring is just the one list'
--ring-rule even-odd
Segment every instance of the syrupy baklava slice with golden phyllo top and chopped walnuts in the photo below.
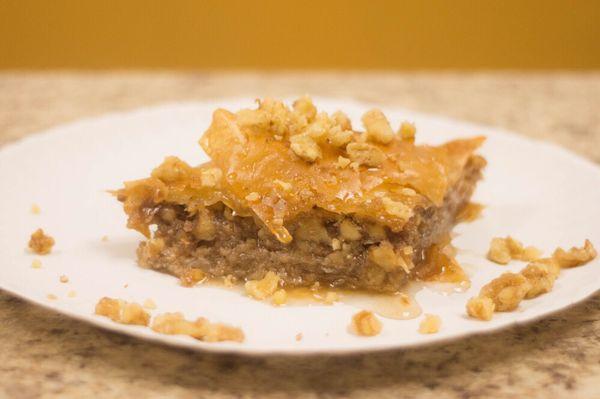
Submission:
{"label": "syrupy baklava slice with golden phyllo top and chopped walnuts", "polygon": [[397,291],[447,240],[481,178],[484,138],[416,145],[379,110],[354,130],[304,97],[218,109],[200,140],[208,163],[167,158],[116,192],[146,236],[139,264],[194,281]]}

